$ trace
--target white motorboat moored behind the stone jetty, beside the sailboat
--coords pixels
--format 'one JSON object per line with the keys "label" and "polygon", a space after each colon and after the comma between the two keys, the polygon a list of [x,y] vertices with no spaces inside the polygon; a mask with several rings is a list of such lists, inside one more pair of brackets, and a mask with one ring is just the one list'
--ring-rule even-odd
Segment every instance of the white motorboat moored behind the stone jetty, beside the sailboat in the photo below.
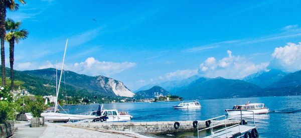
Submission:
{"label": "white motorboat moored behind the stone jetty, beside the sailboat", "polygon": [[105,116],[107,122],[130,121],[133,117],[128,112],[118,112],[117,109],[104,109],[101,111],[101,116]]}

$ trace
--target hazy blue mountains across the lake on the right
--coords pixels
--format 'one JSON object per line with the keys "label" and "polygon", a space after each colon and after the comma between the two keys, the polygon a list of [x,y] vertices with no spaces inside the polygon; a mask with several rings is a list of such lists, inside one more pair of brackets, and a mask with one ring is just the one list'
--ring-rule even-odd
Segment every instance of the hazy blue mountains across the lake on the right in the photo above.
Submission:
{"label": "hazy blue mountains across the lake on the right", "polygon": [[[183,96],[186,99],[299,95],[301,94],[301,70],[286,73],[271,69],[251,74],[243,80],[193,76],[156,85],[166,88],[171,94]],[[139,89],[149,86],[151,85]]]}

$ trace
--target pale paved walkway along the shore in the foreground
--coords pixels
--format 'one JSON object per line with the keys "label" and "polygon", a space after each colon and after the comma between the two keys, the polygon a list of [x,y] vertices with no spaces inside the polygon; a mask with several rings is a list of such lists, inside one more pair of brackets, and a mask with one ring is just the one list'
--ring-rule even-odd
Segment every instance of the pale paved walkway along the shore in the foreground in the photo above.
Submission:
{"label": "pale paved walkway along the shore in the foreground", "polygon": [[64,126],[68,123],[45,122],[44,127],[29,127],[30,122],[15,123],[14,137],[147,137],[135,132]]}

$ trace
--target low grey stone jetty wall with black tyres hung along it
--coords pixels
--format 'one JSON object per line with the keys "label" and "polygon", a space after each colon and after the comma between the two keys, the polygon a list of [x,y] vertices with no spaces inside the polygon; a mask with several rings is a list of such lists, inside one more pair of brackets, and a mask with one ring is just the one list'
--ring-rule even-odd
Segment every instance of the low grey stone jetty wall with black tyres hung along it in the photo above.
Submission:
{"label": "low grey stone jetty wall with black tyres hung along it", "polygon": [[[193,131],[197,128],[193,127],[193,121],[177,121],[180,127],[174,127],[176,121],[149,121],[149,122],[89,122],[89,123],[75,123],[70,125],[90,128],[100,128],[109,130],[133,131],[133,132],[146,132],[146,133],[173,133]],[[199,120],[199,129],[206,128],[204,120]],[[215,122],[215,120],[213,120]],[[237,120],[228,120],[227,126],[237,124]],[[222,126],[222,125],[221,125]],[[220,126],[220,127],[221,127]],[[224,126],[224,125],[223,125]]]}

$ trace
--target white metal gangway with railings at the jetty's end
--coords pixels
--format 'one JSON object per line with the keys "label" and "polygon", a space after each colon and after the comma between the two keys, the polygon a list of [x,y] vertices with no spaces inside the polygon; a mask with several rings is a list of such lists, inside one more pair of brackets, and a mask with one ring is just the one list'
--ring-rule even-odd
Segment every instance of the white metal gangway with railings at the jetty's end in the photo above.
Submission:
{"label": "white metal gangway with railings at the jetty's end", "polygon": [[[244,111],[245,111],[245,110],[244,110]],[[210,129],[210,131],[211,131],[211,137],[213,137],[213,135],[214,135],[215,133],[222,132],[222,131],[225,131],[225,132],[224,132],[224,133],[225,133],[225,136],[228,137],[228,132],[227,132],[227,130],[230,129],[230,128],[238,127],[238,130],[241,131],[240,125],[243,125],[243,124],[244,124],[244,123],[243,123],[243,121],[245,122],[244,119],[252,119],[253,125],[254,125],[254,127],[255,127],[255,115],[254,115],[254,111],[251,111],[251,110],[248,110],[248,111],[250,111],[250,112],[253,113],[253,114],[252,114],[252,118],[250,118],[250,117],[243,117],[242,111],[240,111],[240,116],[233,116],[233,117],[227,118],[227,115],[221,115],[221,116],[217,116],[217,117],[214,117],[214,118],[210,118],[210,119],[205,120],[205,122],[210,121],[210,126],[207,126],[207,128],[203,128],[203,129],[200,129],[200,130],[199,130],[199,122],[198,122],[198,125],[197,125],[198,137],[199,137],[199,132],[200,132],[200,131],[207,130],[207,129]],[[223,119],[221,119],[221,118],[223,118]],[[218,120],[218,119],[221,119],[221,120]],[[213,121],[213,120],[215,120],[215,121]],[[234,125],[231,125],[231,126],[227,126],[227,123],[226,123],[226,122],[229,121],[229,120],[231,120],[231,121],[237,120],[237,123],[234,124]],[[222,125],[224,126],[224,128],[215,130],[215,127],[217,127],[217,126],[222,126]],[[229,134],[229,137],[231,137],[230,135],[232,136],[232,134]],[[242,136],[242,135],[240,135],[240,136],[238,136],[238,137],[241,137],[241,136]]]}

